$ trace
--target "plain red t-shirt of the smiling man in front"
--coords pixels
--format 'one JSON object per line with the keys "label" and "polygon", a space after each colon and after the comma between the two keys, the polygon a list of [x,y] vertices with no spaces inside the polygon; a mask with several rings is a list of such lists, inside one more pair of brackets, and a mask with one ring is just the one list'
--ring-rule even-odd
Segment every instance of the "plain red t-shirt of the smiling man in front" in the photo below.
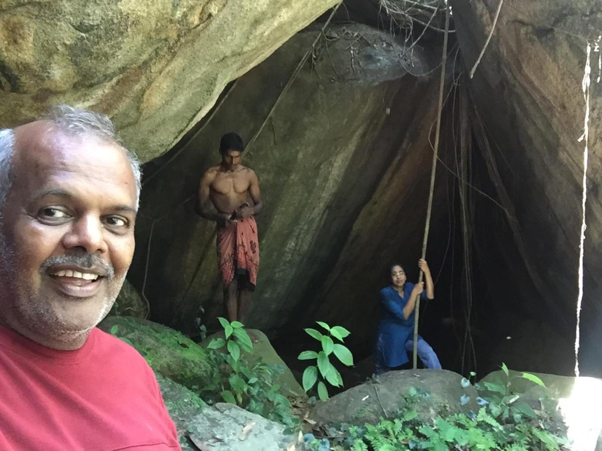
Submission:
{"label": "plain red t-shirt of the smiling man in front", "polygon": [[0,450],[179,450],[146,361],[95,328],[57,351],[0,326]]}

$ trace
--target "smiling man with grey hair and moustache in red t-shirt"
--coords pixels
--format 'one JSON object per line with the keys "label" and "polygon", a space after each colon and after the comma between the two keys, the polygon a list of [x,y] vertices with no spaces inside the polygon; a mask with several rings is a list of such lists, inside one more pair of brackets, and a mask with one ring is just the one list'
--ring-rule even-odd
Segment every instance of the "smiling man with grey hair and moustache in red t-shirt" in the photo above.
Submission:
{"label": "smiling man with grey hair and moustache in red t-shirt", "polygon": [[174,450],[144,359],[96,325],[134,253],[140,167],[60,106],[0,130],[0,449]]}

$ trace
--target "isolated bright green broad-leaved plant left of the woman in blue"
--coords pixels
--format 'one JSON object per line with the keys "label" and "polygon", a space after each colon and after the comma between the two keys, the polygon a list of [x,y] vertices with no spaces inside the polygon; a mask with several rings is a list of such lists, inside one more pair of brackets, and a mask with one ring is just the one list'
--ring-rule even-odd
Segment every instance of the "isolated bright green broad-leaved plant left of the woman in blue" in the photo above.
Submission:
{"label": "isolated bright green broad-leaved plant left of the woman in blue", "polygon": [[[318,382],[318,397],[321,400],[328,399],[328,390],[324,381],[333,387],[343,387],[343,378],[341,373],[330,362],[330,356],[334,355],[346,366],[353,365],[353,355],[347,346],[341,345],[343,339],[349,336],[350,332],[341,326],[330,327],[325,322],[316,321],[320,327],[324,328],[327,334],[320,331],[307,328],[305,332],[320,342],[321,351],[303,351],[297,357],[299,360],[314,360],[315,365],[308,366],[303,372],[303,390],[309,391]],[[335,343],[334,339],[341,343]],[[318,381],[318,378],[322,379]]]}

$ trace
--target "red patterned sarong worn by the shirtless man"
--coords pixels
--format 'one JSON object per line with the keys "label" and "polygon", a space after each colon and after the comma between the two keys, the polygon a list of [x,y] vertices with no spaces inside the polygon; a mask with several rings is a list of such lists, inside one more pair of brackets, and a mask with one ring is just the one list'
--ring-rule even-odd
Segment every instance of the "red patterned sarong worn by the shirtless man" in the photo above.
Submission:
{"label": "red patterned sarong worn by the shirtless man", "polygon": [[[259,244],[255,218],[217,225],[217,265],[224,284],[238,277],[240,287],[255,289],[259,270]],[[242,285],[240,285],[242,283]]]}

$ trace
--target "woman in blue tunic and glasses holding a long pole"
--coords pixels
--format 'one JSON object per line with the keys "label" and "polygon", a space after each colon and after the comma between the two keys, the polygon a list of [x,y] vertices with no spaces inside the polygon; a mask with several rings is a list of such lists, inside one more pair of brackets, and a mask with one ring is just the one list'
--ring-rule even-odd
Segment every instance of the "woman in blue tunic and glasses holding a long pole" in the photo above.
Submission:
{"label": "woman in blue tunic and glasses holding a long pole", "polygon": [[[374,361],[376,374],[408,363],[408,351],[414,349],[414,316],[418,296],[434,299],[435,286],[426,260],[418,260],[418,268],[424,272],[424,282],[413,284],[406,281],[401,265],[391,266],[391,285],[380,290],[382,314],[376,336]],[[425,368],[441,369],[441,363],[429,343],[418,336],[418,357]]]}

